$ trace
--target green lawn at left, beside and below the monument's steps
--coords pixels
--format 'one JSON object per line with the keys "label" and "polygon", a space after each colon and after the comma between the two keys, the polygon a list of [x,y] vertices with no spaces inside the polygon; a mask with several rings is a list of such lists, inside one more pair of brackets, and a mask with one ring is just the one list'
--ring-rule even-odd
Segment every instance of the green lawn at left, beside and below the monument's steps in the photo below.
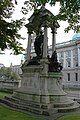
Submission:
{"label": "green lawn at left, beside and below the monument's steps", "polygon": [[[10,94],[5,92],[0,92],[0,98],[4,98],[5,95],[10,95]],[[0,105],[0,120],[44,120],[44,118],[11,110],[7,107]]]}

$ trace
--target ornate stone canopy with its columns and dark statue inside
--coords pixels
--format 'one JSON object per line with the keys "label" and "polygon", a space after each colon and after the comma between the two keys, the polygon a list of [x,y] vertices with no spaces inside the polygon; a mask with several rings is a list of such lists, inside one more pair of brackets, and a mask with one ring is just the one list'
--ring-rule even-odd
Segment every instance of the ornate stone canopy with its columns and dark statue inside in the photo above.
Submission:
{"label": "ornate stone canopy with its columns and dark statue inside", "polygon": [[[49,71],[58,71],[58,67],[60,65],[57,62],[57,59],[54,61],[56,53],[55,52],[55,34],[57,31],[57,28],[59,28],[59,24],[56,20],[56,17],[45,8],[43,5],[40,9],[36,9],[34,13],[31,15],[31,17],[28,19],[29,23],[25,26],[28,29],[28,45],[27,45],[27,65],[39,65],[41,64],[44,66],[44,73],[46,74]],[[48,54],[48,28],[51,28],[52,30],[52,57],[50,58]],[[41,34],[41,30],[43,29],[43,32]],[[36,33],[36,38],[34,41],[34,50],[36,53],[36,57],[30,58],[30,52],[31,52],[31,34]],[[54,58],[53,58],[54,56]],[[52,60],[53,58],[53,60]],[[54,62],[54,65],[53,65]],[[48,65],[50,64],[50,65]],[[56,68],[56,66],[57,68]],[[49,67],[48,67],[49,66]],[[52,68],[52,66],[55,66],[55,69]]]}

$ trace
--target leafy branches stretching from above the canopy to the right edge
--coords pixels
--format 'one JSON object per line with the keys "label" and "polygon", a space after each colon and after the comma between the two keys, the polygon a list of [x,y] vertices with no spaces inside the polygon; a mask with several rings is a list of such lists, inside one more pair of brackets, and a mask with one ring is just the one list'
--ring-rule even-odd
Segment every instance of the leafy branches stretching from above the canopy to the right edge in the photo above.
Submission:
{"label": "leafy branches stretching from above the canopy to the right edge", "polygon": [[55,20],[63,20],[69,23],[69,26],[65,29],[79,31],[80,30],[80,0],[27,0],[24,2],[25,7],[22,7],[22,12],[27,13],[29,10],[34,9],[36,11],[38,7],[49,3],[51,6],[60,3],[59,14],[55,16]]}

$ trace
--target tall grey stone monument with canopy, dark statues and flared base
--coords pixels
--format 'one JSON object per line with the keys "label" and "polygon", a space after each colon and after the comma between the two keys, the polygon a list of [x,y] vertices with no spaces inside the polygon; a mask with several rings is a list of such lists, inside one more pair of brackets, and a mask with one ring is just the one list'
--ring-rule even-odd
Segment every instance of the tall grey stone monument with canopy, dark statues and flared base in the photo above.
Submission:
{"label": "tall grey stone monument with canopy, dark statues and flared base", "polygon": [[[50,115],[79,107],[70,100],[61,86],[62,66],[57,61],[55,34],[59,27],[55,16],[42,6],[34,12],[26,25],[28,29],[27,58],[22,65],[21,87],[11,97],[5,97],[8,105],[37,113]],[[52,56],[48,55],[47,29],[52,30]],[[36,33],[34,49],[36,57],[31,58],[31,34]]]}

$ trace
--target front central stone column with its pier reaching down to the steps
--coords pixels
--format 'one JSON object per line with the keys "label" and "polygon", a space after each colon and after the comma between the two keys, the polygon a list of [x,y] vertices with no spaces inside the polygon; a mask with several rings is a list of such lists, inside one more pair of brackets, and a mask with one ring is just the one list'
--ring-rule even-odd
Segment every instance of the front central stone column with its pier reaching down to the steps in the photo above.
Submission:
{"label": "front central stone column with its pier reaching down to the steps", "polygon": [[[47,25],[44,25],[44,41],[43,41],[43,57],[41,59],[41,65],[43,66],[42,70],[42,79],[44,82],[44,88],[41,90],[42,91],[42,96],[41,96],[41,102],[42,103],[49,103],[49,93],[48,93],[48,80],[47,80],[47,75],[48,75],[48,37],[47,37]],[[45,107],[48,107],[47,105],[44,105]]]}

